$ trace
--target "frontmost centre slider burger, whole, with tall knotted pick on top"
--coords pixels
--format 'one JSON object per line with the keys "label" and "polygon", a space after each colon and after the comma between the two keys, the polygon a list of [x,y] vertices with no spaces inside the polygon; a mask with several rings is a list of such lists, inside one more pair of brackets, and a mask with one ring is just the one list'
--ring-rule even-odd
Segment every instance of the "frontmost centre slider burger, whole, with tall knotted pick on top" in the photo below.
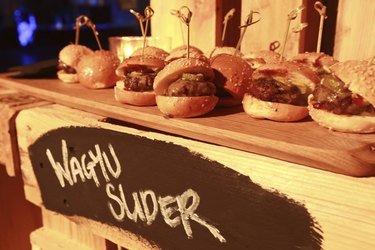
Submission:
{"label": "frontmost centre slider burger, whole, with tall knotted pick on top", "polygon": [[169,117],[195,117],[214,109],[218,97],[208,62],[180,58],[167,64],[156,76],[154,91],[159,110]]}

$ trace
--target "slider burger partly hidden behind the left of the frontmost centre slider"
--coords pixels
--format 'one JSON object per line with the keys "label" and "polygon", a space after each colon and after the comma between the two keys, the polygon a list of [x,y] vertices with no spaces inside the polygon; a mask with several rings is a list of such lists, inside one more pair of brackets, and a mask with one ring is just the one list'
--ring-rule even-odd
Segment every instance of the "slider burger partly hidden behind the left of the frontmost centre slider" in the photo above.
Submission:
{"label": "slider burger partly hidden behind the left of the frontmost centre slider", "polygon": [[150,55],[125,59],[116,69],[116,75],[121,79],[114,88],[115,99],[135,106],[156,105],[153,83],[164,66],[163,59]]}

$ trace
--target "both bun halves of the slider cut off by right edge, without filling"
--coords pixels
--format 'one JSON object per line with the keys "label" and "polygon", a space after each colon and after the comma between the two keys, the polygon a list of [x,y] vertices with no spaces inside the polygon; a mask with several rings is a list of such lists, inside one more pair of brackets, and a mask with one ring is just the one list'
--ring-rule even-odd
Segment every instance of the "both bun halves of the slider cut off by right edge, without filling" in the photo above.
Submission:
{"label": "both bun halves of the slider cut off by right edge, without filling", "polygon": [[[375,65],[367,61],[346,61],[332,65],[330,70],[345,86],[355,94],[362,96],[375,106]],[[313,96],[309,96],[309,112],[311,118],[319,125],[331,130],[347,133],[374,133],[375,117],[366,115],[338,115],[332,112],[315,109]]]}

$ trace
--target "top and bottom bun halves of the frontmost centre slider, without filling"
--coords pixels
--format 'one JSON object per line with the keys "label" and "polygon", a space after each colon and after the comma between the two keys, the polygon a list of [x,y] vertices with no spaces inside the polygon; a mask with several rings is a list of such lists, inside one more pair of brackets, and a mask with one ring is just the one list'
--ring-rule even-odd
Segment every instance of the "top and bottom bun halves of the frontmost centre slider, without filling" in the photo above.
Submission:
{"label": "top and bottom bun halves of the frontmost centre slider, without filling", "polygon": [[187,97],[163,95],[169,85],[178,80],[183,73],[201,73],[208,81],[214,79],[214,72],[207,61],[196,58],[180,58],[172,61],[155,77],[154,91],[159,110],[169,117],[196,117],[213,110],[218,101],[218,97],[214,95]]}

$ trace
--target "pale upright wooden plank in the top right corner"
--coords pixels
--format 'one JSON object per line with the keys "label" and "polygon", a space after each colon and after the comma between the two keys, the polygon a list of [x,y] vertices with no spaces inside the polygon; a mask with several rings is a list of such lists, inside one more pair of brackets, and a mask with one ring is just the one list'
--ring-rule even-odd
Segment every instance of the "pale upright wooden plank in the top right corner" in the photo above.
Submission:
{"label": "pale upright wooden plank in the top right corner", "polygon": [[366,60],[375,55],[373,15],[375,1],[340,0],[336,24],[334,57]]}

